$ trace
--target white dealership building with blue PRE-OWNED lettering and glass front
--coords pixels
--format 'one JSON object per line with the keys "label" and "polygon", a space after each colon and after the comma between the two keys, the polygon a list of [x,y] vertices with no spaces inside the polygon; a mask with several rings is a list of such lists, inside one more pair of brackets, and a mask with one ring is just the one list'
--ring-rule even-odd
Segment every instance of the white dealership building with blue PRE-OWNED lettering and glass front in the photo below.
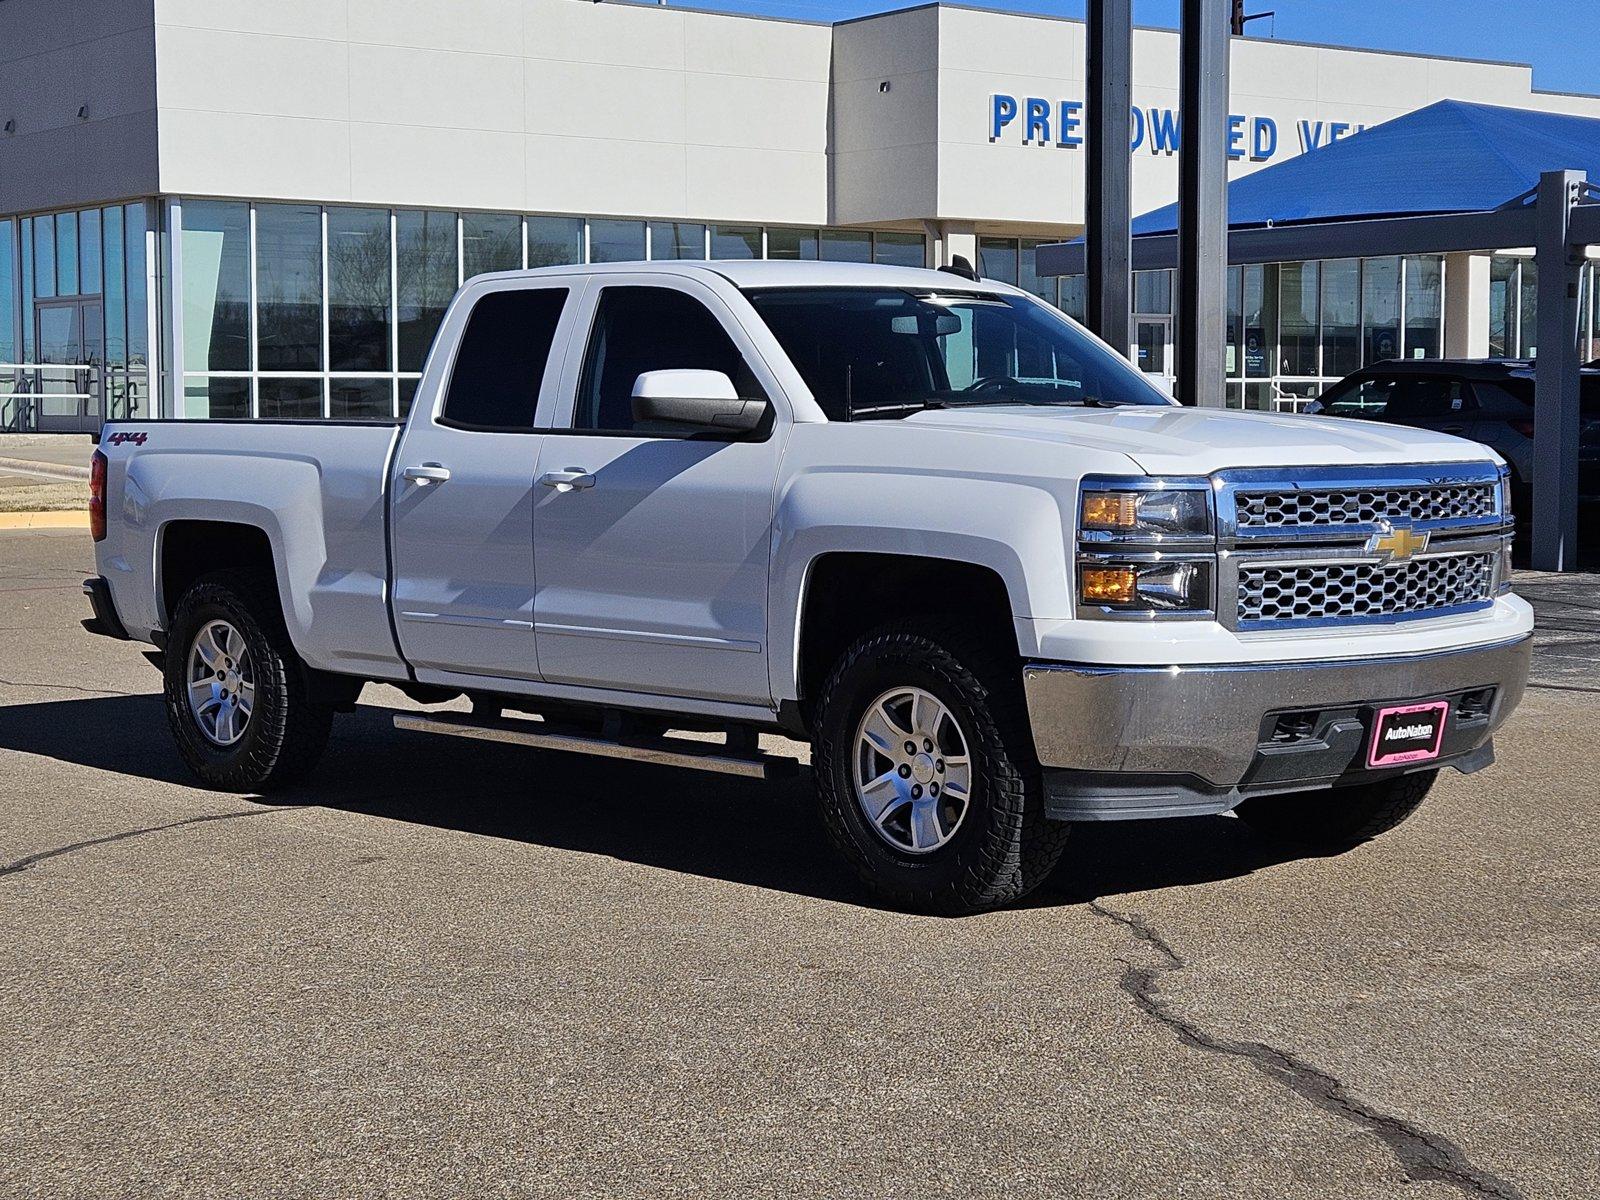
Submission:
{"label": "white dealership building with blue PRE-OWNED lettering and glass front", "polygon": [[[1526,66],[1235,38],[1229,168],[1442,99],[1600,118]],[[1176,195],[1176,107],[1178,37],[1138,30],[1136,213]],[[963,256],[1077,314],[1082,278],[1035,248],[1083,229],[1086,128],[1082,22],[955,5],[6,0],[0,429],[390,419],[461,280],[522,266]],[[1517,246],[1234,267],[1227,400],[1534,354],[1533,293]],[[1171,296],[1170,272],[1134,280],[1157,374]]]}

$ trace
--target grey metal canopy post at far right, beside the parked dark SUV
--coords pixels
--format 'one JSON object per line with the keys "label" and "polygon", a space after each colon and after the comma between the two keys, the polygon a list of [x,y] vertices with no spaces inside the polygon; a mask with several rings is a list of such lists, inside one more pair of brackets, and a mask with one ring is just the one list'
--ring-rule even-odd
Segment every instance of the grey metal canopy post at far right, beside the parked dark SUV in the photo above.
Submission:
{"label": "grey metal canopy post at far right, beside the parked dark SUV", "polygon": [[1582,171],[1544,171],[1534,213],[1539,357],[1533,379],[1533,565],[1578,566],[1578,275],[1573,205]]}

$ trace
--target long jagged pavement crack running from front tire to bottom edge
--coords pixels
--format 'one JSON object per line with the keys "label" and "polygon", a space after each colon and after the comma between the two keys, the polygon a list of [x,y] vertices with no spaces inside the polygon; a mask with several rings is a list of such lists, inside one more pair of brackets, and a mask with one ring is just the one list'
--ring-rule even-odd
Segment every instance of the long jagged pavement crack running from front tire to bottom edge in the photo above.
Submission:
{"label": "long jagged pavement crack running from front tire to bottom edge", "polygon": [[1494,1200],[1526,1200],[1507,1181],[1474,1166],[1461,1147],[1448,1138],[1421,1130],[1400,1117],[1378,1112],[1362,1104],[1362,1101],[1349,1094],[1342,1080],[1294,1058],[1286,1050],[1278,1050],[1262,1042],[1235,1042],[1211,1034],[1178,1016],[1168,1010],[1166,1002],[1162,998],[1160,978],[1170,971],[1181,971],[1189,963],[1138,914],[1115,912],[1099,901],[1090,901],[1090,910],[1122,925],[1165,958],[1157,966],[1134,966],[1122,960],[1126,970],[1120,984],[1122,990],[1133,997],[1134,1005],[1146,1016],[1174,1030],[1184,1045],[1245,1059],[1262,1075],[1288,1086],[1323,1112],[1331,1112],[1366,1130],[1389,1146],[1395,1158],[1400,1160],[1406,1178],[1413,1182],[1443,1182],[1467,1195],[1493,1197]]}

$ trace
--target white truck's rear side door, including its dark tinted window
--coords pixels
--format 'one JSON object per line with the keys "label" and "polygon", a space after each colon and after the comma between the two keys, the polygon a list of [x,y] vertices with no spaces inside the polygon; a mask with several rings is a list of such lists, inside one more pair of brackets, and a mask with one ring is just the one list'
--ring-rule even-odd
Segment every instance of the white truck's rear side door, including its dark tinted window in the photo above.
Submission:
{"label": "white truck's rear side door, including its dark tinted window", "polygon": [[[390,472],[394,616],[419,680],[538,680],[533,472],[581,280],[477,285],[438,333]],[[454,347],[442,355],[442,347]],[[448,358],[440,362],[440,358]]]}

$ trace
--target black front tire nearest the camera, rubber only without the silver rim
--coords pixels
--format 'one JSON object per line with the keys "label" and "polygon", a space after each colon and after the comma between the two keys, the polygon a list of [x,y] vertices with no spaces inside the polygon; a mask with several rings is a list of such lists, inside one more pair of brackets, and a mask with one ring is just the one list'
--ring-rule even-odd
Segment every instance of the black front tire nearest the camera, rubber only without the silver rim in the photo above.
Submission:
{"label": "black front tire nearest the camera, rubber only without the silver rim", "polygon": [[[965,816],[938,850],[891,846],[856,800],[858,725],[885,691],[915,686],[955,717],[973,763]],[[813,768],[829,837],[861,880],[893,906],[963,915],[1011,904],[1050,875],[1069,826],[1045,819],[1021,672],[957,626],[886,626],[851,645],[818,698]]]}

